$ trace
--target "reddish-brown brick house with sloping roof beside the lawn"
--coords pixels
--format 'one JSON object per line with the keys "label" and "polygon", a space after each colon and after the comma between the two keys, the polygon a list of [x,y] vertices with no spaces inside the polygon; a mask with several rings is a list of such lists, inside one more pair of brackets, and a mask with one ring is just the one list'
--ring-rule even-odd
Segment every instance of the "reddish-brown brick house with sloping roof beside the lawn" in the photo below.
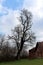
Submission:
{"label": "reddish-brown brick house with sloping roof beside the lawn", "polygon": [[37,42],[36,47],[29,50],[29,59],[43,58],[43,42]]}

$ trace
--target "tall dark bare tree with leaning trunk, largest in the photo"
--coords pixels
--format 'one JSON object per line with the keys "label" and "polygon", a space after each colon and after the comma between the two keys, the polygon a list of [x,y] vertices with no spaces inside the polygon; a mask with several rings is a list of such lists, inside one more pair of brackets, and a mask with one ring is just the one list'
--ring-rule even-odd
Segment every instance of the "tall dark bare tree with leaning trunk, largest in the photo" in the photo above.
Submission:
{"label": "tall dark bare tree with leaning trunk, largest in the photo", "polygon": [[17,45],[17,56],[16,58],[20,58],[20,53],[23,49],[24,43],[29,42],[33,44],[35,41],[35,35],[31,31],[32,27],[32,14],[28,12],[28,10],[23,9],[20,13],[20,25],[16,26],[12,32],[13,34],[9,36],[9,39],[13,39]]}

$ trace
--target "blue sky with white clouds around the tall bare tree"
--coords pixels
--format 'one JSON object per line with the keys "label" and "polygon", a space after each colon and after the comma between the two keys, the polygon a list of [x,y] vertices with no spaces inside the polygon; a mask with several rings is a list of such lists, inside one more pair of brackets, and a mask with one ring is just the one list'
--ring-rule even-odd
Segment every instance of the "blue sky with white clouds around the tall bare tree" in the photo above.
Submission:
{"label": "blue sky with white clouds around the tall bare tree", "polygon": [[36,40],[43,41],[43,0],[0,0],[0,34],[10,34],[17,24],[21,9],[32,12]]}

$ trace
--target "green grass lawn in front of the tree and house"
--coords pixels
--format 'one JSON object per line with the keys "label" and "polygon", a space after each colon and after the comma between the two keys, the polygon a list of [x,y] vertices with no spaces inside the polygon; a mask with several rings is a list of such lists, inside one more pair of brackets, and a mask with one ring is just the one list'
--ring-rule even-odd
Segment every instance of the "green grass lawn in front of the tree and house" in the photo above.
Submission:
{"label": "green grass lawn in front of the tree and house", "polygon": [[21,59],[12,62],[1,62],[0,65],[43,65],[43,59]]}

